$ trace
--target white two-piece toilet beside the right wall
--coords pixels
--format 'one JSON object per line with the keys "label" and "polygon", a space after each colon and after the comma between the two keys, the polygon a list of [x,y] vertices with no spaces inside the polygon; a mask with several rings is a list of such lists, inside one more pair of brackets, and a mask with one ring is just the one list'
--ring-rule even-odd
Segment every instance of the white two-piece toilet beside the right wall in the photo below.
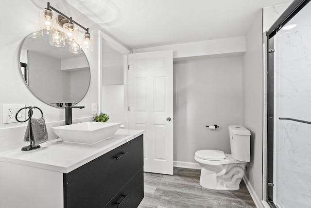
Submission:
{"label": "white two-piece toilet beside the right wall", "polygon": [[201,169],[200,185],[214,190],[239,190],[246,162],[250,161],[250,135],[246,128],[229,126],[231,154],[219,150],[199,150],[194,159]]}

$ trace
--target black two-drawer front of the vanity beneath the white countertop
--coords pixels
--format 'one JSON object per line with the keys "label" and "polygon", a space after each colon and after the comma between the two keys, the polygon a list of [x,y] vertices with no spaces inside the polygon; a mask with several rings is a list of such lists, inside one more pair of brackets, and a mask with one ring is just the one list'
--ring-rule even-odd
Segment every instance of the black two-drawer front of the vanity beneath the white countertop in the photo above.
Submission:
{"label": "black two-drawer front of the vanity beneath the white countertop", "polygon": [[64,173],[64,208],[137,208],[143,198],[143,135]]}

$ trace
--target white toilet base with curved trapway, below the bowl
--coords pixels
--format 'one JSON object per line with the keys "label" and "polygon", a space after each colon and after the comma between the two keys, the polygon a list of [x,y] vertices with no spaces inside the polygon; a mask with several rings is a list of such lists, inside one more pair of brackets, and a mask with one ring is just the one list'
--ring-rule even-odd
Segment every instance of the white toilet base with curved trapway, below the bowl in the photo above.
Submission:
{"label": "white toilet base with curved trapway, below the bowl", "polygon": [[202,168],[200,185],[206,189],[213,190],[239,190],[240,182],[244,176],[242,167],[244,165],[235,164],[235,166],[228,167],[228,171],[223,175],[217,175],[215,171]]}

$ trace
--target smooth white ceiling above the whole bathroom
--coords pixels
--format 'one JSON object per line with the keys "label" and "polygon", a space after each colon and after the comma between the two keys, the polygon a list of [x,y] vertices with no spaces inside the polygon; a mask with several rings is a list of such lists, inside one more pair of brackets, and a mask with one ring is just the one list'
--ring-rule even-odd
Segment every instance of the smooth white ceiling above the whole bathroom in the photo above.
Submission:
{"label": "smooth white ceiling above the whole bathroom", "polygon": [[66,0],[132,49],[245,36],[263,7],[293,0]]}

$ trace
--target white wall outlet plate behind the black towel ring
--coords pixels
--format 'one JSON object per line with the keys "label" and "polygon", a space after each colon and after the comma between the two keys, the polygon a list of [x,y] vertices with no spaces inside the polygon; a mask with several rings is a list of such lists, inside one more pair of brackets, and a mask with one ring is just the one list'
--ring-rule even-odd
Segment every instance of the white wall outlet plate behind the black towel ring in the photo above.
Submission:
{"label": "white wall outlet plate behind the black towel ring", "polygon": [[[19,109],[24,107],[25,104],[2,104],[2,123],[7,124],[17,122],[15,115]],[[20,111],[17,115],[18,120],[24,121],[25,113],[25,109]]]}

